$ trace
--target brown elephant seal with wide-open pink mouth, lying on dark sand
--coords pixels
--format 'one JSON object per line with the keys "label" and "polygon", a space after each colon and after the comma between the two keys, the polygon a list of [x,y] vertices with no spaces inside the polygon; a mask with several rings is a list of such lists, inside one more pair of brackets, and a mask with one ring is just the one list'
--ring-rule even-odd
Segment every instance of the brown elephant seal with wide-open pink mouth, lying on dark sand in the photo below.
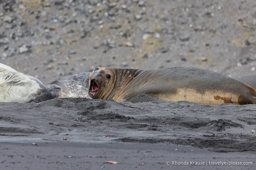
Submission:
{"label": "brown elephant seal with wide-open pink mouth, lying on dark sand", "polygon": [[167,101],[200,104],[256,104],[256,90],[231,77],[191,67],[157,70],[97,67],[90,75],[89,96],[125,102],[138,94]]}

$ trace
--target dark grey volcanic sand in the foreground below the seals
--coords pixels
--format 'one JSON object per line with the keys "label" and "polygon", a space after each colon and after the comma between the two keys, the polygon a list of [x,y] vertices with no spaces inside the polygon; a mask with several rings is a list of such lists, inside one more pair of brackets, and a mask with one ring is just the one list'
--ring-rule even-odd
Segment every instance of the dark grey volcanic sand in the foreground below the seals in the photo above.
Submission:
{"label": "dark grey volcanic sand in the foreground below the seals", "polygon": [[[230,169],[252,162],[256,105],[62,98],[0,103],[0,169]],[[68,139],[68,140],[63,140]],[[105,163],[116,161],[117,164]],[[188,162],[170,165],[167,161]]]}

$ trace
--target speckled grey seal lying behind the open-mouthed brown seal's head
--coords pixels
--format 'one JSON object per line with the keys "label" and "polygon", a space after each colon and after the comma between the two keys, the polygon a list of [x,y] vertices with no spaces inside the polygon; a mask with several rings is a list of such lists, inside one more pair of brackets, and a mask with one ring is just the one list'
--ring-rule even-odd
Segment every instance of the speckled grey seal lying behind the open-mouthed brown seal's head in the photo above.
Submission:
{"label": "speckled grey seal lying behind the open-mouthed brown seal's head", "polygon": [[57,80],[46,85],[52,93],[53,98],[85,97],[88,95],[89,74],[79,73],[67,78],[67,80]]}

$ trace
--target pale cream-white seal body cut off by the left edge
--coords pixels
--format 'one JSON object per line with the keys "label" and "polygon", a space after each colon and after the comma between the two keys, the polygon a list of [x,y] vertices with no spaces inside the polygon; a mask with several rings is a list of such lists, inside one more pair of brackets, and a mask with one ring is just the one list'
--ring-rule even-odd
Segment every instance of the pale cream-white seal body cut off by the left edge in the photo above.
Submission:
{"label": "pale cream-white seal body cut off by the left edge", "polygon": [[0,101],[35,103],[52,99],[42,82],[0,63]]}

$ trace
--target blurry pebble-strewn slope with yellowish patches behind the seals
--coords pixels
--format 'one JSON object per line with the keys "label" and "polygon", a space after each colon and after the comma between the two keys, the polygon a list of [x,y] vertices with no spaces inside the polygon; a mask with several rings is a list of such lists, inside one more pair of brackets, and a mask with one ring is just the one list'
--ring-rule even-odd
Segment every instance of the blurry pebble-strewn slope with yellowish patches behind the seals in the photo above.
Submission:
{"label": "blurry pebble-strewn slope with yellowish patches behind the seals", "polygon": [[97,66],[255,74],[256,1],[1,0],[0,62],[48,84]]}

